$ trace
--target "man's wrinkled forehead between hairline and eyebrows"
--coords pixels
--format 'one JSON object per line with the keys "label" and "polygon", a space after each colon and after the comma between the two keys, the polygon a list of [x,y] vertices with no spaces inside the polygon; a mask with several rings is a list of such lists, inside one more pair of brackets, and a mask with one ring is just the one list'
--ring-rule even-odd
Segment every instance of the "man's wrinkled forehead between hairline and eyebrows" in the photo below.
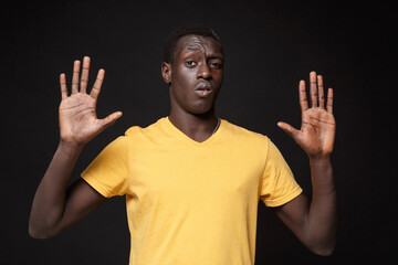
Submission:
{"label": "man's wrinkled forehead between hairline and eyebrows", "polygon": [[176,55],[190,52],[201,52],[209,56],[222,56],[223,54],[220,43],[211,36],[186,35],[180,38],[176,45]]}

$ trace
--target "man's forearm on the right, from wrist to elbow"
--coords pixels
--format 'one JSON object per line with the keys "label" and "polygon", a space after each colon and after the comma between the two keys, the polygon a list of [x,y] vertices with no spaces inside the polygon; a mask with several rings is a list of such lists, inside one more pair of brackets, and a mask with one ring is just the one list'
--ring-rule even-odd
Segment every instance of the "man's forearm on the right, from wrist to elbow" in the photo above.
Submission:
{"label": "man's forearm on the right, from wrist to elbow", "polygon": [[336,242],[337,202],[329,157],[311,158],[313,197],[306,224],[314,252],[328,254]]}

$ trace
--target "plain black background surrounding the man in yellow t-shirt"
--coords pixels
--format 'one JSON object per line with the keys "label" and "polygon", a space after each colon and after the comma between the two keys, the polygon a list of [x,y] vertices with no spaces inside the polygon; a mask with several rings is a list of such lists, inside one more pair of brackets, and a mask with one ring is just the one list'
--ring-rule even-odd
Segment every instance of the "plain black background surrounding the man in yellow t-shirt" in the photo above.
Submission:
{"label": "plain black background surrounding the man in yellow t-shirt", "polygon": [[106,71],[98,117],[124,113],[86,146],[74,180],[129,126],[168,115],[161,46],[187,23],[211,26],[222,40],[218,115],[268,135],[308,195],[307,158],[276,123],[300,127],[297,84],[310,71],[335,89],[336,250],[331,257],[311,254],[260,203],[256,264],[389,261],[397,243],[395,13],[392,2],[370,1],[31,1],[2,9],[0,263],[128,263],[124,198],[53,239],[28,235],[32,199],[59,141],[59,74],[70,82],[73,61],[90,55],[92,80]]}

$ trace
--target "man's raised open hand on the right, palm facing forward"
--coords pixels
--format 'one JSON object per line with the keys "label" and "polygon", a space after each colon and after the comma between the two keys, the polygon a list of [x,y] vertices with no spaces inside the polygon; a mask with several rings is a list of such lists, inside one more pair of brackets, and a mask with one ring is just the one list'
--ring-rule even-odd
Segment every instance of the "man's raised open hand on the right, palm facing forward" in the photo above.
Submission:
{"label": "man's raised open hand on the right, palm facing forward", "polygon": [[[327,102],[324,96],[322,75],[310,73],[311,107],[306,96],[305,82],[298,84],[302,125],[297,130],[286,123],[277,123],[290,135],[310,158],[329,156],[333,151],[336,123],[333,116],[333,89],[327,89]],[[325,107],[326,103],[326,107]]]}

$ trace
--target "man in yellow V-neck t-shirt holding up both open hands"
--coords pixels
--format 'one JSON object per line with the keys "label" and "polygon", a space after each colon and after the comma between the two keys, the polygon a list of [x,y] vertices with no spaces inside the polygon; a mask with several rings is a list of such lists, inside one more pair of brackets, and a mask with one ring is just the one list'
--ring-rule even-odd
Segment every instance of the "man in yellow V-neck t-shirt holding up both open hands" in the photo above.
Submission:
{"label": "man in yellow V-neck t-shirt holding up both open hands", "polygon": [[[60,145],[32,205],[30,234],[45,239],[78,222],[106,198],[126,195],[130,264],[254,264],[260,199],[311,251],[329,255],[336,240],[336,192],[331,153],[333,91],[323,77],[298,84],[302,127],[279,123],[310,158],[313,198],[295,182],[277,148],[263,135],[216,116],[223,51],[216,33],[186,26],[170,33],[161,74],[170,114],[134,126],[109,144],[67,188],[85,144],[122,113],[97,119],[100,70],[87,94],[90,59],[75,61],[72,94],[61,74]],[[326,104],[326,106],[325,106]]]}

